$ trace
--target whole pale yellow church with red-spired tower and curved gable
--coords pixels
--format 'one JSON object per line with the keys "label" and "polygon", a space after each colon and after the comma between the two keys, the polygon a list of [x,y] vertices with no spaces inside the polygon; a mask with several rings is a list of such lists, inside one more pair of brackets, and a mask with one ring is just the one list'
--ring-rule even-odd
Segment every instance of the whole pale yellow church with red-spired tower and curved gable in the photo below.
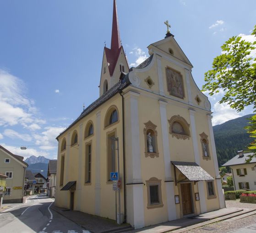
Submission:
{"label": "whole pale yellow church with red-spired tower and curved gable", "polygon": [[129,69],[114,0],[100,97],[57,137],[56,206],[117,219],[119,154],[120,222],[142,228],[224,208],[211,105],[192,65],[169,30],[148,53]]}

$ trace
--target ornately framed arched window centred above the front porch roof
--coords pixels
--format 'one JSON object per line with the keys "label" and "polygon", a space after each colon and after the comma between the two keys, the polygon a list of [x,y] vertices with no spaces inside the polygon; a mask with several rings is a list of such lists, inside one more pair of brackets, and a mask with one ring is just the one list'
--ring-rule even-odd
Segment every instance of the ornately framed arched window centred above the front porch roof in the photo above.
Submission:
{"label": "ornately framed arched window centred above the front porch roof", "polygon": [[189,123],[180,115],[172,116],[169,122],[169,133],[178,139],[189,139]]}

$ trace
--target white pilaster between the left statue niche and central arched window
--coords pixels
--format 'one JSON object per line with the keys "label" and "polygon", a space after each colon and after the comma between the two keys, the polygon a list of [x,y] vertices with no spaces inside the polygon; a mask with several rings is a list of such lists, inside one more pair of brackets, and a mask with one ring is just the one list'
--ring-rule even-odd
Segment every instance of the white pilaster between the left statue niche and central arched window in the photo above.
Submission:
{"label": "white pilaster between the left statue niche and central arched window", "polygon": [[[160,118],[161,118],[161,131],[162,131],[162,140],[163,140],[163,159],[164,159],[164,171],[165,171],[165,191],[167,196],[167,208],[168,208],[168,220],[177,219],[175,210],[175,201],[174,201],[174,182],[172,178],[171,170],[171,156],[170,156],[170,147],[169,147],[169,133],[168,133],[168,124],[167,124],[167,113],[166,105],[167,102],[159,100],[160,107]],[[172,182],[170,182],[172,181]]]}

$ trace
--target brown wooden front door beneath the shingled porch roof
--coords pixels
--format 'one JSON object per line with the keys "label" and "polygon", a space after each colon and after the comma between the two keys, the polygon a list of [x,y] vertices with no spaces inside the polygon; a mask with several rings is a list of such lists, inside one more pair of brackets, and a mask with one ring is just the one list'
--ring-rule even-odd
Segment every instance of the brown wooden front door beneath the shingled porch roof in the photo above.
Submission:
{"label": "brown wooden front door beneath the shingled porch roof", "polygon": [[182,210],[183,215],[190,214],[192,210],[192,201],[191,201],[191,184],[185,183],[180,184],[181,197],[182,197]]}

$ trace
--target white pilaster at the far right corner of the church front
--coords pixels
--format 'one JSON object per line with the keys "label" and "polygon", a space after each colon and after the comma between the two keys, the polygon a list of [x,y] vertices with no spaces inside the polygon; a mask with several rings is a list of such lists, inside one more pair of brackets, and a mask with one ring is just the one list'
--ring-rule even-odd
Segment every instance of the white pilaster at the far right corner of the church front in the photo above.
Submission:
{"label": "white pilaster at the far right corner of the church front", "polygon": [[216,147],[215,147],[215,141],[214,141],[214,135],[213,135],[213,129],[212,129],[212,116],[207,115],[207,118],[208,118],[209,132],[210,132],[210,142],[212,144],[212,158],[214,162],[215,175],[216,175],[216,181],[217,181],[219,205],[220,205],[220,208],[225,208],[225,201],[224,201],[224,195],[222,191],[222,185],[221,185],[221,180],[220,180],[220,175],[218,170],[218,159],[217,159]]}

